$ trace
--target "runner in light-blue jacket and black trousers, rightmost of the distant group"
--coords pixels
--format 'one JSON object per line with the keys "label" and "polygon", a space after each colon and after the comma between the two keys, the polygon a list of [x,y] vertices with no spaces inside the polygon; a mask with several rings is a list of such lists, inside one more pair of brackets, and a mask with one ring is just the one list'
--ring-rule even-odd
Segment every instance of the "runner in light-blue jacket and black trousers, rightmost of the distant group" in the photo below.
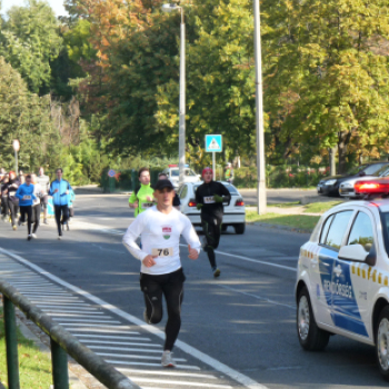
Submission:
{"label": "runner in light-blue jacket and black trousers, rightmost of the distant group", "polygon": [[[58,239],[62,237],[61,225],[69,219],[69,192],[71,186],[67,180],[62,179],[63,171],[61,168],[56,170],[57,180],[50,184],[49,196],[52,196],[52,203],[54,206],[56,222],[58,228]],[[62,220],[61,220],[62,216]]]}

